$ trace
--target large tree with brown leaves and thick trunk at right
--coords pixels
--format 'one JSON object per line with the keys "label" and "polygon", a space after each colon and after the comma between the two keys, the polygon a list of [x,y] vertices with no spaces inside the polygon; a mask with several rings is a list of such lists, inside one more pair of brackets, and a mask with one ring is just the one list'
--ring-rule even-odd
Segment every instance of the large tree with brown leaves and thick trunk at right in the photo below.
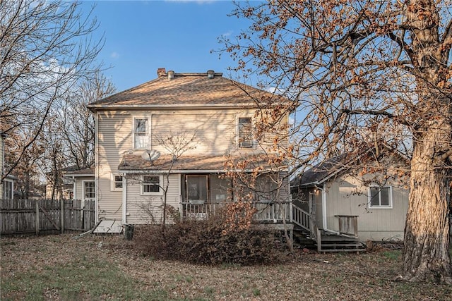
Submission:
{"label": "large tree with brown leaves and thick trunk at right", "polygon": [[252,21],[222,39],[238,65],[295,105],[293,172],[384,142],[412,153],[404,278],[452,283],[450,1],[237,2]]}

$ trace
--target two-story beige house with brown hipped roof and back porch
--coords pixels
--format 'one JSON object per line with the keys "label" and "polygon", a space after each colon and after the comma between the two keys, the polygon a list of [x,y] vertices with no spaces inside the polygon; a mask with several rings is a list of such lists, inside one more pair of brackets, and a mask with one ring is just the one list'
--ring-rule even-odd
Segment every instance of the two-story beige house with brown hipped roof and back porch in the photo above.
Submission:
{"label": "two-story beige house with brown hipped roof and back porch", "polygon": [[[270,169],[268,159],[256,159],[280,151],[274,136],[257,138],[255,128],[260,108],[255,101],[275,95],[211,70],[174,73],[160,68],[157,75],[155,80],[88,105],[96,127],[95,183],[90,184],[95,188],[90,197],[97,200],[97,221],[102,221],[96,231],[160,223],[165,195],[168,206],[180,216],[202,218],[230,197],[227,161],[240,165],[246,160],[262,172],[274,171],[256,182],[256,218],[278,224],[284,211],[289,221],[287,166]],[[287,125],[287,116],[280,123]],[[280,137],[285,141],[287,134]],[[276,182],[278,194],[274,193]],[[275,202],[283,202],[278,210]]]}

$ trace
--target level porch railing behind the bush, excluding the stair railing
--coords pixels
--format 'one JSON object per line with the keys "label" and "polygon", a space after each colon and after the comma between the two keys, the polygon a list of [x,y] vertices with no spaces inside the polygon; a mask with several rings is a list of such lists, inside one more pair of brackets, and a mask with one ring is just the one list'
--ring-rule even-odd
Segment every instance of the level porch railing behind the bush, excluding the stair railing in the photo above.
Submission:
{"label": "level porch railing behind the bush, excluding the stair railing", "polygon": [[[194,204],[191,202],[182,202],[182,217],[184,219],[206,219],[210,214],[214,214],[218,209],[224,207],[226,202],[222,203],[203,203]],[[290,202],[253,202],[256,208],[254,220],[259,222],[280,223],[285,220],[290,222]]]}

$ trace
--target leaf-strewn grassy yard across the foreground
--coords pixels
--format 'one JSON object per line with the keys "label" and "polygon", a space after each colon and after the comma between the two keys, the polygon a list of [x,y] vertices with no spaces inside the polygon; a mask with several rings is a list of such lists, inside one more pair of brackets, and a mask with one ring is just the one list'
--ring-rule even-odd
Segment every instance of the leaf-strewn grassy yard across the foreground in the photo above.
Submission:
{"label": "leaf-strewn grassy yard across the foreground", "polygon": [[[268,266],[143,257],[122,235],[1,238],[1,300],[450,300],[450,285],[396,280],[400,250],[297,252]],[[136,239],[136,238],[134,238]]]}

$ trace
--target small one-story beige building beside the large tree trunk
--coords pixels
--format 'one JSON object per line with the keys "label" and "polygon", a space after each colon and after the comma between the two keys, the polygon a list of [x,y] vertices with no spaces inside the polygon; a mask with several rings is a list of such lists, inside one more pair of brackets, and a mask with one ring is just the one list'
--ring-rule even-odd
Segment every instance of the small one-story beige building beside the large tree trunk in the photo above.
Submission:
{"label": "small one-story beige building beside the large tree trunk", "polygon": [[[376,166],[374,158],[381,168],[370,167]],[[360,241],[403,240],[408,211],[408,176],[403,171],[409,166],[408,158],[387,147],[328,159],[292,181],[293,202],[321,233]]]}

